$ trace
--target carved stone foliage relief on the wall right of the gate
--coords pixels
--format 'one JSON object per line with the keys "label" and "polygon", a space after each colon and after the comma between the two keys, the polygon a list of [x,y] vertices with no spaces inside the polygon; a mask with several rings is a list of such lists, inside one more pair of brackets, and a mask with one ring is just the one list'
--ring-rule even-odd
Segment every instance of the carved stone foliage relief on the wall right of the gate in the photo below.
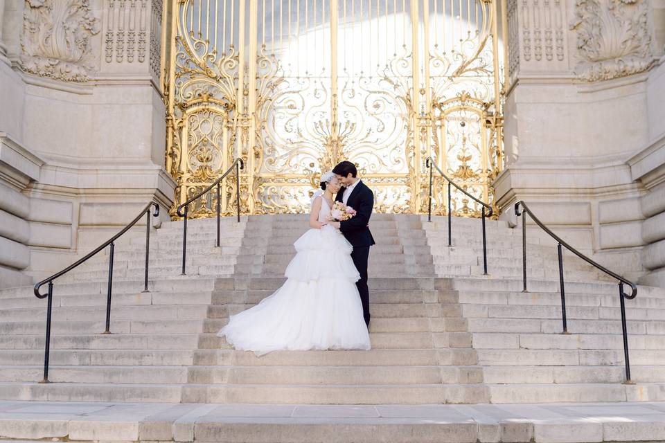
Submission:
{"label": "carved stone foliage relief on the wall right of the gate", "polygon": [[653,63],[648,0],[577,0],[579,78],[611,80],[645,71]]}

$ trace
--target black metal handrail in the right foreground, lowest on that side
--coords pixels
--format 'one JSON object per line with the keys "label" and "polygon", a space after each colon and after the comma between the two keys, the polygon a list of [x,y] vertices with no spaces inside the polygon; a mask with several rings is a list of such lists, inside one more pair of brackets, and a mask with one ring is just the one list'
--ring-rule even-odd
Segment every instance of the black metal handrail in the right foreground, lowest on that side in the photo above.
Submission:
{"label": "black metal handrail in the right foreground, lowest on that side", "polygon": [[[522,207],[522,210],[520,211],[520,206]],[[621,275],[614,273],[610,271],[609,269],[605,268],[605,266],[598,264],[594,262],[594,260],[590,259],[583,253],[580,253],[576,248],[570,246],[567,242],[565,242],[561,237],[553,233],[547,226],[545,226],[538,217],[536,217],[533,212],[531,212],[531,209],[529,209],[529,206],[524,203],[524,201],[520,200],[515,203],[515,215],[517,217],[522,217],[522,284],[523,284],[523,292],[528,292],[526,290],[526,215],[524,214],[529,214],[531,216],[531,219],[540,226],[542,230],[544,230],[550,237],[555,239],[557,241],[557,255],[558,255],[558,261],[559,261],[559,285],[560,285],[560,293],[561,293],[561,318],[563,322],[563,333],[568,334],[568,325],[567,325],[567,320],[566,320],[566,296],[565,296],[565,284],[564,284],[564,277],[563,277],[563,254],[561,251],[561,248],[564,247],[571,253],[574,253],[578,257],[580,257],[582,260],[587,262],[588,264],[594,266],[594,268],[598,269],[599,271],[602,271],[603,273],[610,275],[610,277],[616,279],[619,281],[619,302],[621,306],[621,329],[623,332],[623,355],[624,358],[626,359],[626,383],[630,383],[630,359],[628,356],[628,329],[626,327],[626,304],[625,304],[625,298],[628,298],[628,300],[632,300],[637,296],[637,285],[627,278],[621,277]],[[630,288],[632,289],[630,291],[630,295],[626,292],[623,291],[623,284],[628,284]]]}

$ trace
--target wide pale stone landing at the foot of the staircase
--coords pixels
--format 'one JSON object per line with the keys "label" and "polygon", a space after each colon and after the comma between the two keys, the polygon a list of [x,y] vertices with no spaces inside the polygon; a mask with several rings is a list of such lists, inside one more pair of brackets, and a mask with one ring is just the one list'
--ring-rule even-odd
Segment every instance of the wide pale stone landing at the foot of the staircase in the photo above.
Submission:
{"label": "wide pale stone landing at the foot of the staircase", "polygon": [[3,401],[0,437],[51,442],[663,442],[665,404],[311,406]]}

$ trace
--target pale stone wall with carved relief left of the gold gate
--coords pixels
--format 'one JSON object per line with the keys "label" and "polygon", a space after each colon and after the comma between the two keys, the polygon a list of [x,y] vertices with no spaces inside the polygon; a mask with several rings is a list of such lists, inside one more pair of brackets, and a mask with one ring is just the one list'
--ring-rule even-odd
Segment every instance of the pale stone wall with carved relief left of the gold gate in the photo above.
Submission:
{"label": "pale stone wall with carved relief left of the gold gate", "polygon": [[[73,262],[148,201],[170,207],[161,8],[0,0],[0,242],[13,242],[0,287]],[[10,161],[19,155],[29,171]]]}

